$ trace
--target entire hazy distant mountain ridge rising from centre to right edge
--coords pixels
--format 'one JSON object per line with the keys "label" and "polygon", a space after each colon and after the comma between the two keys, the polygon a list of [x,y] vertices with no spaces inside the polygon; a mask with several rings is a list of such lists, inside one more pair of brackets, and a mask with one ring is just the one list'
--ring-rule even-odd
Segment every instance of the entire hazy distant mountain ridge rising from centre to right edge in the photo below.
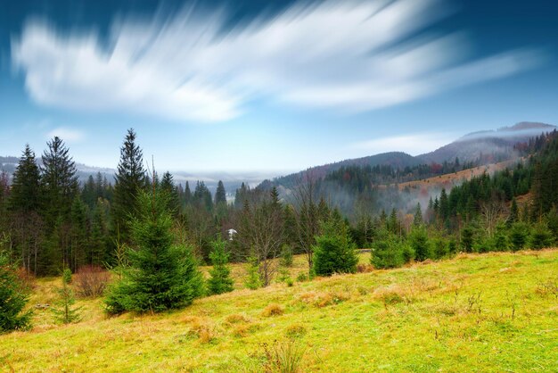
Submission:
{"label": "entire hazy distant mountain ridge rising from centre to right edge", "polygon": [[339,170],[344,166],[377,166],[386,165],[398,169],[413,167],[418,164],[453,162],[459,158],[460,162],[473,162],[479,159],[485,162],[496,162],[513,157],[513,145],[527,142],[531,137],[546,132],[552,132],[557,127],[551,124],[522,121],[512,127],[498,128],[473,132],[444,145],[431,153],[409,155],[403,152],[390,152],[369,155],[362,158],[344,160],[311,167],[291,175],[275,178],[274,183],[283,187],[291,187],[303,174],[311,178],[324,178],[328,173]]}

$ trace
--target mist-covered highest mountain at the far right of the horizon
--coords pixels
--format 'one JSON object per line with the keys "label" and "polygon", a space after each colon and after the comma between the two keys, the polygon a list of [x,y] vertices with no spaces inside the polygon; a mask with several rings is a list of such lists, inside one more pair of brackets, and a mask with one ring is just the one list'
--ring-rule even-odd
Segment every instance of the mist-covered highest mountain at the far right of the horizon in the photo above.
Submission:
{"label": "mist-covered highest mountain at the far right of the horizon", "polygon": [[439,149],[418,155],[423,163],[442,163],[459,158],[461,162],[499,162],[514,155],[513,145],[529,141],[544,132],[552,132],[557,127],[551,124],[522,121],[512,127],[473,132],[458,138],[453,143]]}

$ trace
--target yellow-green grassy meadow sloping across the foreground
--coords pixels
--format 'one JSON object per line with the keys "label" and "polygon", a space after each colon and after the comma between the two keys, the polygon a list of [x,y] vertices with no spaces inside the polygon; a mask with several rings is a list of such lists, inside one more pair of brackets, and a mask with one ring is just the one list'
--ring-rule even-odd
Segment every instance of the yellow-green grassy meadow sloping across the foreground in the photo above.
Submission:
{"label": "yellow-green grassy meadow sloping across the foreground", "polygon": [[[296,258],[293,272],[303,269]],[[70,326],[37,311],[33,330],[0,336],[0,369],[266,371],[280,345],[304,352],[300,371],[558,370],[555,249],[256,291],[240,288],[242,271],[233,271],[238,290],[182,311],[107,319],[100,300],[79,301],[84,319]],[[49,303],[57,281],[38,281],[31,302]]]}

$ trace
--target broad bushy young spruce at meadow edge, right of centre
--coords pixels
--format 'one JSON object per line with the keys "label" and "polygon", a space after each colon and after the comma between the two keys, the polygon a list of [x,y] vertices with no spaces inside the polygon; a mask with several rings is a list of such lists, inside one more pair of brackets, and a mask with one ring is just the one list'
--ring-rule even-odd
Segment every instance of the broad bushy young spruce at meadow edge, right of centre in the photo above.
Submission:
{"label": "broad bushy young spruce at meadow edge, right of centre", "polygon": [[349,228],[342,220],[325,222],[322,234],[316,236],[313,269],[316,276],[357,271],[357,246],[349,236]]}

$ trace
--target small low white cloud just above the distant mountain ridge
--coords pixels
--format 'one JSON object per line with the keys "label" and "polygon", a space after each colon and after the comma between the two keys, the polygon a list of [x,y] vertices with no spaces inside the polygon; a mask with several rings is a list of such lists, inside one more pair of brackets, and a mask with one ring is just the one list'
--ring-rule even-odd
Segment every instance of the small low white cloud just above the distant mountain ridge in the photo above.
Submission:
{"label": "small low white cloud just above the distant mountain ridge", "polygon": [[443,145],[454,141],[455,134],[449,133],[421,133],[406,136],[381,137],[357,142],[354,149],[365,150],[373,154],[387,152],[405,152],[411,155],[429,153]]}

